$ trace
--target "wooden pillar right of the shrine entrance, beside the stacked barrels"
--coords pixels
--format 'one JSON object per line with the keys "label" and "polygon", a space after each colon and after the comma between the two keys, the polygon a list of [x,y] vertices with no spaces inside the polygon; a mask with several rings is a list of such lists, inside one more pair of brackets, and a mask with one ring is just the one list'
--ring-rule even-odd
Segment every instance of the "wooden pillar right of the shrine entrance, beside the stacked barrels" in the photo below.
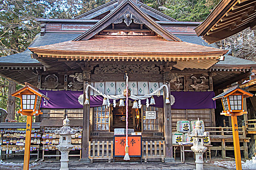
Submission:
{"label": "wooden pillar right of the shrine entrance, beside the stacked barrels", "polygon": [[[164,83],[168,83],[168,88],[170,88],[170,71],[164,74]],[[169,92],[170,93],[170,92]],[[166,90],[164,90],[164,136],[166,143],[166,159],[165,162],[175,161],[172,155],[172,143],[171,143],[171,104],[166,104]],[[169,94],[169,100],[170,94]]]}

